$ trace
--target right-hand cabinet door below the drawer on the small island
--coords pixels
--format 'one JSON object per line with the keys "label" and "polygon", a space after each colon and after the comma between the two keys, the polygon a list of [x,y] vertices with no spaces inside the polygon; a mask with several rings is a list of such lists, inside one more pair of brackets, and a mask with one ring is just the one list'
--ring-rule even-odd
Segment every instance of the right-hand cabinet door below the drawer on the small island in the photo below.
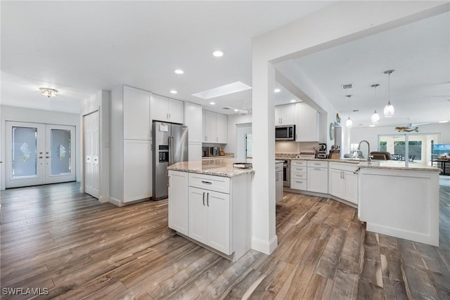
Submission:
{"label": "right-hand cabinet door below the drawer on the small island", "polygon": [[231,254],[230,195],[207,191],[207,244]]}

